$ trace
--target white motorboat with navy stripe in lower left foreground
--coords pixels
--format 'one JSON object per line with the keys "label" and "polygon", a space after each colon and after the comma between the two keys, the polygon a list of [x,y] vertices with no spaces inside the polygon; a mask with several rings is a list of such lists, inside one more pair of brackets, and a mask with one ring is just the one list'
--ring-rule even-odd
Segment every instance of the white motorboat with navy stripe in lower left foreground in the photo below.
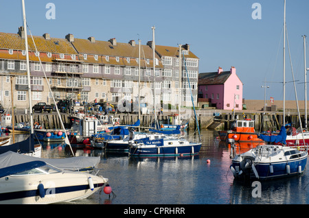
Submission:
{"label": "white motorboat with navy stripe in lower left foreground", "polygon": [[14,152],[0,155],[1,204],[70,202],[89,197],[108,182],[102,176],[64,170],[45,159],[25,157]]}

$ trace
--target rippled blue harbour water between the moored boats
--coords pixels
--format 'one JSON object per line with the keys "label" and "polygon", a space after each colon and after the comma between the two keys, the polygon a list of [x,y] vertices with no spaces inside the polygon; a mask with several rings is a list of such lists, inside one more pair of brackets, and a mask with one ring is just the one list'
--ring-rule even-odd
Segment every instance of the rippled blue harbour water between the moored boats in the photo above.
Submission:
{"label": "rippled blue harbour water between the moored boats", "polygon": [[[78,149],[76,156],[100,156],[99,175],[113,195],[103,191],[70,204],[309,204],[308,166],[303,175],[259,184],[234,181],[230,148],[217,131],[201,131],[198,155],[179,158],[129,158],[103,150]],[[188,138],[197,135],[188,133]],[[43,145],[43,156],[64,158],[66,149]],[[208,160],[208,161],[207,161]]]}

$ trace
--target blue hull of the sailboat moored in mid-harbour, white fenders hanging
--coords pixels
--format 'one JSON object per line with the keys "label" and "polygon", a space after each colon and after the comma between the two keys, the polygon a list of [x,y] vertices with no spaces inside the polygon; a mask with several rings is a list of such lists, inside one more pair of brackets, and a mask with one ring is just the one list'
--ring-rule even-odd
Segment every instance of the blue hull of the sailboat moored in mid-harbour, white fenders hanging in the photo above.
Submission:
{"label": "blue hull of the sailboat moored in mid-harbour, white fenders hanging", "polygon": [[160,156],[193,156],[198,154],[201,143],[179,146],[130,147],[130,156],[160,157]]}

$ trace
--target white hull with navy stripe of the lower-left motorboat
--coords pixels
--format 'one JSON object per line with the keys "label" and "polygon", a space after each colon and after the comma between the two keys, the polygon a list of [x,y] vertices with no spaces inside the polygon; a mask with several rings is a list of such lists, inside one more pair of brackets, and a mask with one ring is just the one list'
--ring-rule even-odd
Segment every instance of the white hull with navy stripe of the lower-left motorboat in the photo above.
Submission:
{"label": "white hull with navy stripe of the lower-left motorboat", "polygon": [[[49,175],[9,175],[0,179],[0,204],[53,204],[89,197],[106,179],[88,173],[51,173]],[[88,178],[93,181],[93,191]],[[74,178],[74,180],[72,180]],[[43,184],[43,195],[38,185]]]}

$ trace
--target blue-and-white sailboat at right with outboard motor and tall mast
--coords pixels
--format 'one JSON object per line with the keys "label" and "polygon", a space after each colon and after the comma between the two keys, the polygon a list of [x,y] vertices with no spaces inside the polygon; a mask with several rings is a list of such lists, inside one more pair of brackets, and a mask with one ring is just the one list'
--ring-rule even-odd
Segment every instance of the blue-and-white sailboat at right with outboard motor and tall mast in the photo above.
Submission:
{"label": "blue-and-white sailboat at right with outboard motor and tall mast", "polygon": [[[286,39],[286,0],[284,0],[284,49],[283,49],[283,75],[284,75],[284,109],[285,109],[285,39]],[[295,86],[295,84],[294,84]],[[296,95],[296,90],[295,90]],[[297,95],[296,95],[297,97]],[[297,104],[298,108],[298,104]],[[284,111],[285,117],[285,111]],[[299,116],[300,117],[300,116]],[[286,128],[282,125],[277,136],[260,135],[264,141],[282,145],[258,145],[248,152],[235,155],[230,166],[234,178],[239,180],[269,180],[273,178],[286,178],[299,175],[306,169],[308,151],[299,151],[297,147],[286,145]],[[235,141],[229,139],[231,147]]]}

